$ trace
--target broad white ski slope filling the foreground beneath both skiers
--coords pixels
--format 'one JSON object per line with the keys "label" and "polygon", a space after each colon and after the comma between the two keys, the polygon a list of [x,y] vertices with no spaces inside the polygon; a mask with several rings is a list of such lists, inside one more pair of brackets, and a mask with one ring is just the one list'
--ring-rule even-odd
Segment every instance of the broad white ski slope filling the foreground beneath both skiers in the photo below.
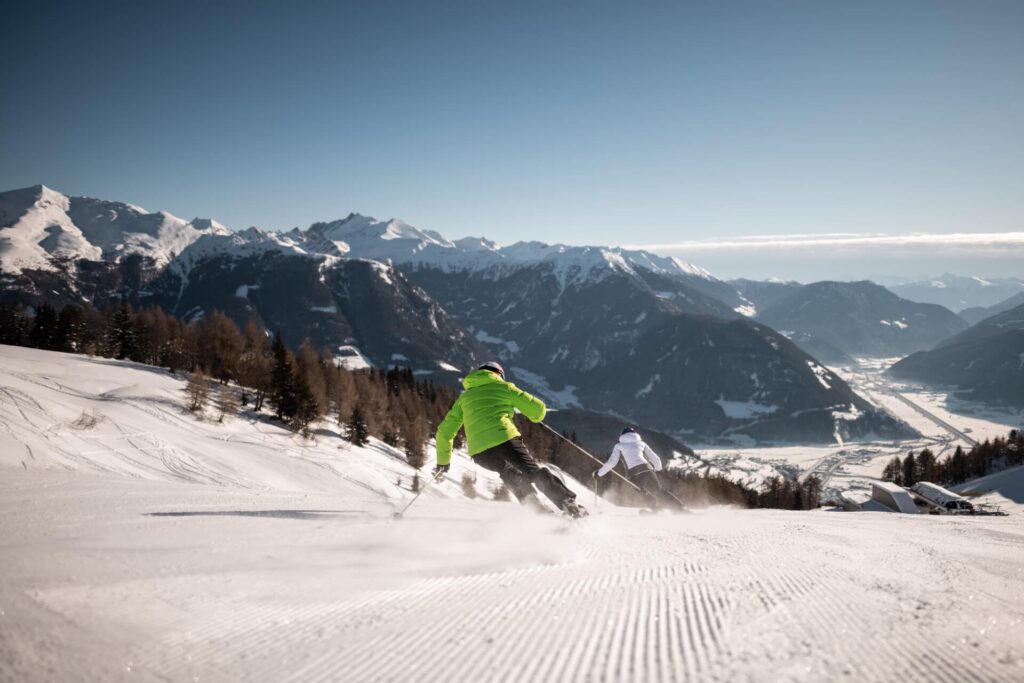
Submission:
{"label": "broad white ski slope filling the foreground beneath both skiers", "polygon": [[1020,506],[639,516],[573,482],[573,524],[456,458],[395,521],[379,442],[199,421],[99,358],[0,347],[0,389],[2,681],[1024,679]]}

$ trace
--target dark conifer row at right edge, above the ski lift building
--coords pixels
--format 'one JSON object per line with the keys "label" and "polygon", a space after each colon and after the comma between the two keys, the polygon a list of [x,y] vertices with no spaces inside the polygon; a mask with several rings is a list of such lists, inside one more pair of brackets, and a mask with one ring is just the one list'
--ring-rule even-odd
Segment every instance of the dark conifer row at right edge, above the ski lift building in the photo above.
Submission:
{"label": "dark conifer row at right edge, above the ski lift building", "polygon": [[911,451],[906,458],[895,456],[882,471],[882,479],[906,487],[919,481],[951,486],[1016,465],[1024,465],[1024,432],[1012,429],[1006,437],[985,439],[967,452],[957,445],[941,460],[931,449],[916,455]]}

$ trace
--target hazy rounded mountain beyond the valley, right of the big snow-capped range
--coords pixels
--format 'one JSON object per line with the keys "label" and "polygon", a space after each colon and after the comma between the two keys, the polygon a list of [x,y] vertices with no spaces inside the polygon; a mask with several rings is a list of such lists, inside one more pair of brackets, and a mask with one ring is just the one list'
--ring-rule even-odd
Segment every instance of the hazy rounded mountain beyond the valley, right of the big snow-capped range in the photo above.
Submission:
{"label": "hazy rounded mountain beyond the valley, right of the big snow-capped range", "polygon": [[828,361],[906,355],[967,327],[942,306],[901,299],[870,282],[805,285],[759,310],[758,321]]}

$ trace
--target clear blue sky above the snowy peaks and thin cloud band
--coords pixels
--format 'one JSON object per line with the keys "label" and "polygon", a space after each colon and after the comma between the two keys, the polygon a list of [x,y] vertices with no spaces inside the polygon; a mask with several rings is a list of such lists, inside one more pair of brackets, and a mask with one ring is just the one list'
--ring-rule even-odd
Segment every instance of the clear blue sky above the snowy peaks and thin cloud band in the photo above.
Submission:
{"label": "clear blue sky above the snowy peaks and thin cloud band", "polygon": [[0,188],[665,253],[1020,231],[1022,36],[1020,1],[20,2]]}

